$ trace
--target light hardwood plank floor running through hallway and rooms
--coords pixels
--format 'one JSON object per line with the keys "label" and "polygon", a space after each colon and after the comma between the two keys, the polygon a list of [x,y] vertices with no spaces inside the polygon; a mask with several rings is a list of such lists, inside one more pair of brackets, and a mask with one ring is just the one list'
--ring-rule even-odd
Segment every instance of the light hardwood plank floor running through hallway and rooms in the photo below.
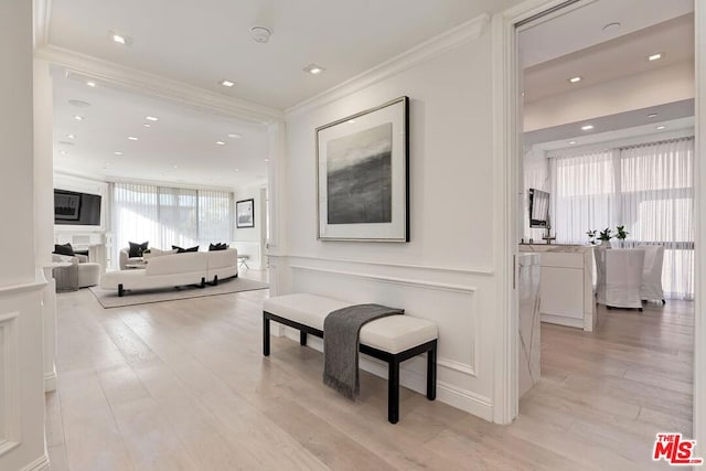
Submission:
{"label": "light hardwood plank floor running through hallway and rooms", "polygon": [[[264,277],[250,270],[250,277]],[[599,312],[590,334],[543,324],[542,382],[510,426],[363,373],[352,403],[322,355],[274,339],[267,290],[103,309],[58,296],[58,388],[46,396],[53,470],[645,470],[657,431],[692,431],[693,304]]]}

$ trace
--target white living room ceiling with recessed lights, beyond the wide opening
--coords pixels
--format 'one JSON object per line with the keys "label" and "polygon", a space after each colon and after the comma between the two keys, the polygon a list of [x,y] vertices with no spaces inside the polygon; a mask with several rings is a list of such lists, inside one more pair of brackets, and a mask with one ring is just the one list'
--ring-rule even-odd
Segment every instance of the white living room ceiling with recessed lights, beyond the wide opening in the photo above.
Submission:
{"label": "white living room ceiling with recessed lights, beyond the wide opening", "polygon": [[[53,82],[54,169],[58,172],[214,188],[267,182],[267,128],[263,125],[101,85],[89,87],[60,68],[54,69]],[[76,115],[84,119],[76,120]]]}

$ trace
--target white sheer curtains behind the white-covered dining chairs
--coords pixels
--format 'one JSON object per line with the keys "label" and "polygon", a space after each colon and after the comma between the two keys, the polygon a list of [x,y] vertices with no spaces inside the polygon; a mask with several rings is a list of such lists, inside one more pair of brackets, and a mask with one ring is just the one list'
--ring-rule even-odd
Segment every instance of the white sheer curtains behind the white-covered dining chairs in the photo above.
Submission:
{"label": "white sheer curtains behind the white-covered dining chairs", "polygon": [[550,159],[557,242],[624,225],[627,247],[664,246],[665,296],[693,299],[693,168],[694,138]]}

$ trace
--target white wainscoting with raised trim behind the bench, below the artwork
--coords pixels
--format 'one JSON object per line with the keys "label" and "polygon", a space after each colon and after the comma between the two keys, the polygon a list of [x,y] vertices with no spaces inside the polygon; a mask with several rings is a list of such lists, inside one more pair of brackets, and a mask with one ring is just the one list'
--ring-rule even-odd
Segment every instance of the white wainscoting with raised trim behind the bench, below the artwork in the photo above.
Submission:
{"label": "white wainscoting with raised trim behind the bench, below the artwork", "polygon": [[[482,353],[492,350],[492,335],[483,334],[480,315],[492,298],[491,271],[275,255],[270,257],[270,276],[277,278],[278,285],[277,292],[270,289],[271,296],[310,292],[351,302],[376,302],[436,322],[438,400],[492,420],[492,357]],[[289,328],[284,331],[292,340],[299,340],[297,331]],[[309,346],[322,351],[319,339],[311,338]],[[361,357],[361,368],[387,376],[386,365],[365,355]],[[424,356],[403,363],[400,384],[425,394]]]}

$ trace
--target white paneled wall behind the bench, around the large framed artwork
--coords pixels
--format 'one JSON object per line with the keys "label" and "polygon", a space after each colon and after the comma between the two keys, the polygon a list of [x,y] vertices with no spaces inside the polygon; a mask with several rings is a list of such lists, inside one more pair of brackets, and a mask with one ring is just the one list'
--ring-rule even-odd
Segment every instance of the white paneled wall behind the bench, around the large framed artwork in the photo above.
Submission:
{"label": "white paneled wall behind the bench, around the large framed artwork", "polygon": [[[404,57],[403,72],[288,113],[287,174],[278,188],[286,253],[270,258],[282,292],[381,302],[437,322],[439,400],[491,419],[496,279],[490,32],[460,41],[429,54],[417,51],[421,62]],[[318,242],[314,129],[402,95],[410,98],[411,240]],[[378,364],[364,367],[384,374]],[[424,392],[424,362],[415,358],[402,381]]]}

